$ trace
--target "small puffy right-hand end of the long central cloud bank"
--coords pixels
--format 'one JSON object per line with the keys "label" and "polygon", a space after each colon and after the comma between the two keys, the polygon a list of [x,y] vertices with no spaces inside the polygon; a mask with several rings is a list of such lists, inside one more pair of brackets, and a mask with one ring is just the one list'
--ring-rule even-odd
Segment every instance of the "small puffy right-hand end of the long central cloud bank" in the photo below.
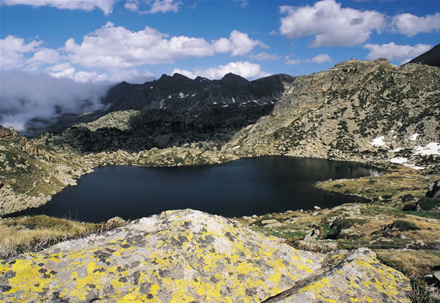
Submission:
{"label": "small puffy right-hand end of the long central cloud bank", "polygon": [[227,53],[230,52],[232,56],[243,56],[248,54],[254,47],[259,45],[262,48],[268,48],[263,42],[249,38],[248,34],[233,30],[229,38],[220,38],[217,41],[212,41],[215,52]]}

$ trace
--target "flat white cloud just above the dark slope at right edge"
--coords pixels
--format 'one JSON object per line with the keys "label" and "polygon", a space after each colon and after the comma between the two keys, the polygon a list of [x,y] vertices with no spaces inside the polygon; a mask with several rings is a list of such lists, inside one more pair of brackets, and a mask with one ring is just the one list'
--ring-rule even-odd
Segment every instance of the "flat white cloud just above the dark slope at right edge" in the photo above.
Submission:
{"label": "flat white cloud just above the dark slope at right edge", "polygon": [[364,48],[369,49],[369,54],[366,58],[377,59],[387,58],[388,60],[400,61],[401,64],[408,62],[412,58],[427,52],[431,49],[431,45],[417,44],[411,45],[397,45],[394,42],[388,44],[366,44]]}

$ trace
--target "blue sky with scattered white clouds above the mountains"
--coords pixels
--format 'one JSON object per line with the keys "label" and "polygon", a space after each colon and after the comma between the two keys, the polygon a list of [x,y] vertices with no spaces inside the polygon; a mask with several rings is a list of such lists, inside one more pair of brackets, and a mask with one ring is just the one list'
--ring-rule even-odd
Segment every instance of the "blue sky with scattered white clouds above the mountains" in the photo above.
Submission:
{"label": "blue sky with scattered white clouds above the mountains", "polygon": [[3,72],[143,82],[180,72],[301,75],[440,41],[440,1],[1,0]]}

